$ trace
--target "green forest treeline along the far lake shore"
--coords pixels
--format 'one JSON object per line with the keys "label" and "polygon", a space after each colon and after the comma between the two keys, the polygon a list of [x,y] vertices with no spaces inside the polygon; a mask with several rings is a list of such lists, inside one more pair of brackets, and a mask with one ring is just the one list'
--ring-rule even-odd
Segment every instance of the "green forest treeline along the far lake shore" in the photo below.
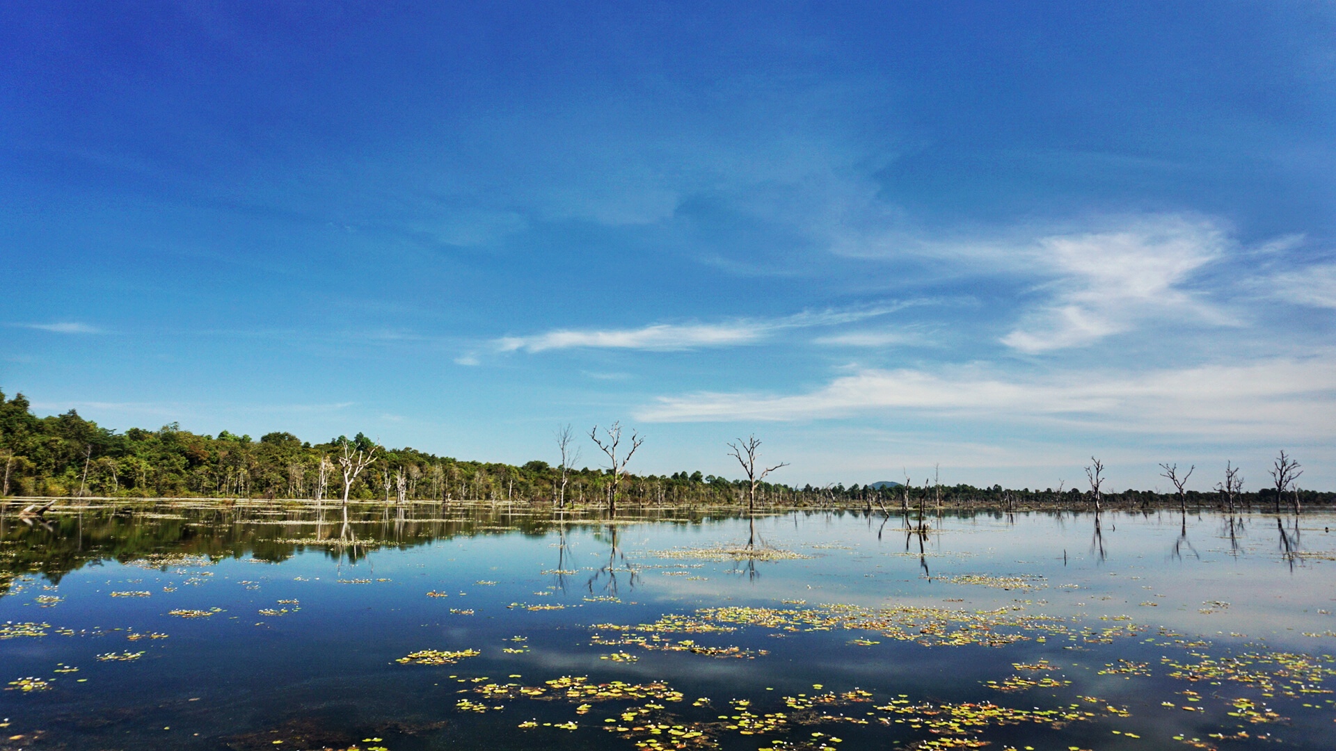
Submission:
{"label": "green forest treeline along the far lake shore", "polygon": [[[116,432],[84,420],[73,409],[37,417],[21,394],[0,392],[0,496],[5,497],[212,497],[212,498],[337,498],[345,452],[374,458],[349,486],[349,498],[407,501],[493,501],[552,505],[737,506],[748,502],[751,482],[701,472],[667,476],[635,474],[619,466],[562,468],[544,460],[524,465],[460,460],[413,448],[383,448],[362,433],[322,442],[291,433],[266,433],[258,440],[227,430],[216,436],[191,433],[178,424],[156,430]],[[554,452],[557,449],[554,448]],[[565,472],[562,472],[565,469]],[[745,469],[745,466],[743,468]],[[565,482],[562,482],[565,478]],[[613,482],[613,481],[617,482]],[[1202,481],[1205,485],[1206,481]],[[1152,490],[1108,492],[1078,488],[1005,489],[1001,485],[831,484],[812,486],[756,482],[755,500],[764,506],[904,508],[1069,508],[1090,505],[1098,494],[1112,508],[1152,508],[1190,504],[1193,508],[1230,505],[1267,508],[1277,502],[1275,488],[1226,494],[1224,485],[1181,494]],[[1287,486],[1284,505],[1331,505],[1336,493]]]}

